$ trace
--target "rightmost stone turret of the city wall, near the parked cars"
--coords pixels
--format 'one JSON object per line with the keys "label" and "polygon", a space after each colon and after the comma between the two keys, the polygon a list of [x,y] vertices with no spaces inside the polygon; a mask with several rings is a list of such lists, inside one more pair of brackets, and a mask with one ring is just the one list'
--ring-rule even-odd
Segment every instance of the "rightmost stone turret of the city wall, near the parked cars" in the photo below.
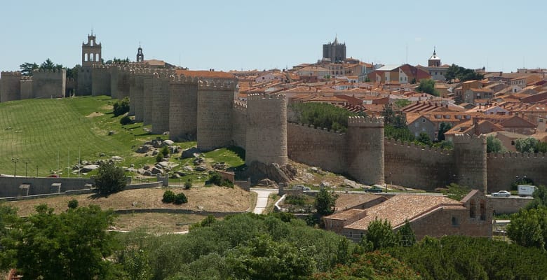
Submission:
{"label": "rightmost stone turret of the city wall, near the parked cars", "polygon": [[456,134],[454,137],[454,162],[459,185],[487,192],[486,137]]}

